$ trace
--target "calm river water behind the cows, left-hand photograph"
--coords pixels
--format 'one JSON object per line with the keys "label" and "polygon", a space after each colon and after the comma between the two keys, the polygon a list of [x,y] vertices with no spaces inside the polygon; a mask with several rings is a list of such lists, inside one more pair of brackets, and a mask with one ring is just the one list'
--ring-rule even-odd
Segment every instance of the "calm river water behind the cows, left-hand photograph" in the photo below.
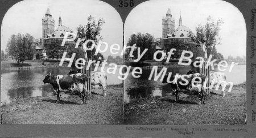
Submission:
{"label": "calm river water behind the cows, left-hand photograph", "polygon": [[[26,70],[10,70],[1,72],[1,103],[10,103],[11,99],[36,96],[52,96],[54,92],[51,84],[44,84],[43,79],[51,72],[52,75],[68,74],[69,67],[61,68],[33,68]],[[98,71],[100,71],[100,67]],[[106,72],[107,67],[104,68]],[[108,85],[121,84],[117,74],[107,74]]]}

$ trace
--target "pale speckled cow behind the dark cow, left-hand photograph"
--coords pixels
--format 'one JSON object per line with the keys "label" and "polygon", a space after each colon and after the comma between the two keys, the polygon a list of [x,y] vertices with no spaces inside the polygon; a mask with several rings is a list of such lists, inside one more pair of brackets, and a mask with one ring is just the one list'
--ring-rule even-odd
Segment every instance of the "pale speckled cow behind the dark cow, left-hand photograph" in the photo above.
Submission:
{"label": "pale speckled cow behind the dark cow, left-hand photograph", "polygon": [[[75,70],[70,70],[68,72],[69,75],[71,74],[76,74],[79,71],[75,71]],[[102,87],[103,89],[103,95],[104,97],[106,96],[106,86],[107,86],[107,76],[105,72],[98,72],[98,71],[92,71],[92,73],[90,74],[90,84],[92,84],[93,86],[95,85],[100,85],[100,87]]]}

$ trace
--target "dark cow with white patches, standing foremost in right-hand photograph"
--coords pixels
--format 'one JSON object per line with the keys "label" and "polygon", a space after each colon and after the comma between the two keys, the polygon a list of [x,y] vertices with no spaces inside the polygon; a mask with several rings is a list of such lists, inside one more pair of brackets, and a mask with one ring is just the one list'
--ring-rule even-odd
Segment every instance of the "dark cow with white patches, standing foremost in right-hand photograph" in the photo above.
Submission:
{"label": "dark cow with white patches, standing foremost in right-hand photograph", "polygon": [[[181,92],[181,91],[186,94],[197,95],[200,100],[199,104],[204,103],[205,89],[202,87],[203,83],[192,85],[192,80],[194,77],[196,77],[196,76],[195,75],[192,75],[192,76],[185,75],[184,79],[188,80],[188,84],[184,85],[185,81],[184,81],[184,79],[181,78],[181,75],[170,76],[170,81],[172,81],[172,83],[169,83],[169,84],[171,85],[171,88],[175,92],[175,103],[177,103],[179,101],[179,92]],[[201,75],[200,78],[201,78],[201,82],[205,81],[204,75]],[[167,79],[168,79],[168,74],[166,74],[164,76],[162,83],[167,83]],[[196,78],[195,80],[199,81],[199,78]],[[181,84],[181,83],[183,83],[183,84]]]}

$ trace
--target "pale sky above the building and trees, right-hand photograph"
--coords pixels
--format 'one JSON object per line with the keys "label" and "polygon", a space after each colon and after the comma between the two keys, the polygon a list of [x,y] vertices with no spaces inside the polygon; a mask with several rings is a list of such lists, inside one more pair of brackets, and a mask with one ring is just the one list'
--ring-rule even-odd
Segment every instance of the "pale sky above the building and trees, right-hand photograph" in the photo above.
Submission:
{"label": "pale sky above the building and trees, right-hand photograph", "polygon": [[231,3],[219,0],[151,0],[135,7],[125,21],[125,45],[132,34],[150,33],[155,38],[162,37],[162,19],[168,8],[171,8],[175,19],[175,29],[179,26],[181,13],[182,24],[191,29],[205,24],[210,15],[214,20],[222,19],[220,37],[221,44],[216,46],[217,52],[224,58],[246,55],[246,24],[242,13]]}

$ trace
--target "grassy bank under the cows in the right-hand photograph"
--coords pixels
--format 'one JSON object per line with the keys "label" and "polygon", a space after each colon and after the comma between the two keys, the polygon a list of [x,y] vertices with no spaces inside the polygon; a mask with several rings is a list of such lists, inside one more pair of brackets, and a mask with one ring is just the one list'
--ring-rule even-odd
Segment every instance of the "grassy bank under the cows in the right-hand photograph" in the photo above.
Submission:
{"label": "grassy bank under the cows in the right-hand photograph", "polygon": [[246,83],[234,85],[225,97],[220,94],[220,90],[214,90],[204,105],[197,104],[196,96],[174,103],[171,93],[166,97],[133,99],[125,103],[125,124],[245,124]]}

